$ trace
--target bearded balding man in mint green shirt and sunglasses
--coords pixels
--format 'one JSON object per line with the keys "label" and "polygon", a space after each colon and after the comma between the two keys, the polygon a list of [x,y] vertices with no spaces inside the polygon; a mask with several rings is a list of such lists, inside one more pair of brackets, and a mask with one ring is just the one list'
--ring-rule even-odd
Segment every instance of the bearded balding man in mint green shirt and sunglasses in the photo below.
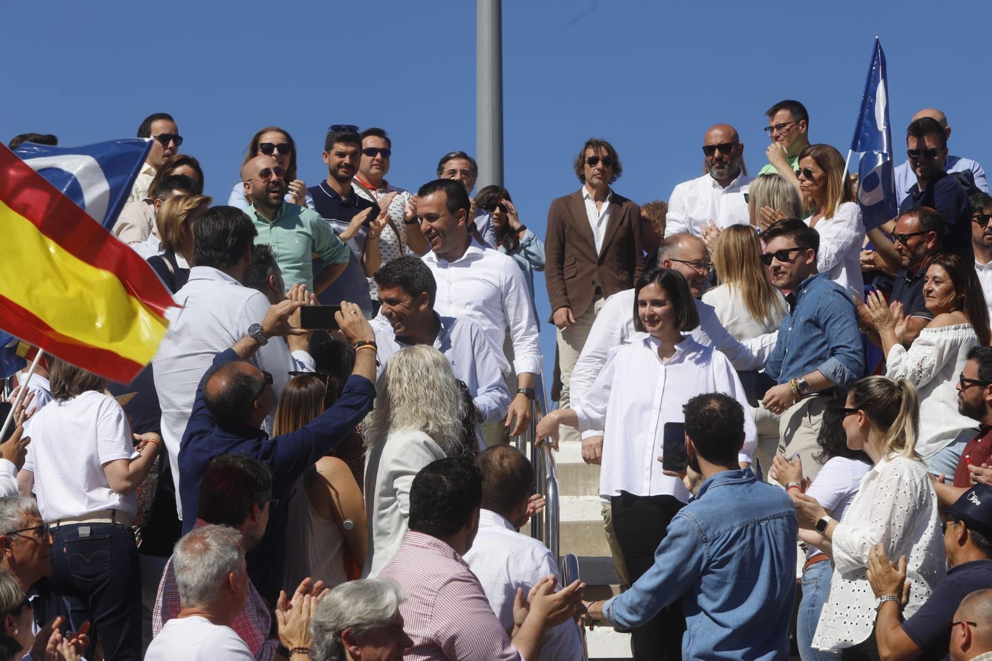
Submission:
{"label": "bearded balding man in mint green shirt and sunglasses", "polygon": [[[284,199],[285,177],[271,156],[257,156],[246,163],[241,179],[252,204],[245,213],[258,230],[255,243],[272,246],[287,289],[306,284],[310,292],[319,294],[344,271],[351,251],[319,213]],[[326,265],[316,277],[313,255]]]}

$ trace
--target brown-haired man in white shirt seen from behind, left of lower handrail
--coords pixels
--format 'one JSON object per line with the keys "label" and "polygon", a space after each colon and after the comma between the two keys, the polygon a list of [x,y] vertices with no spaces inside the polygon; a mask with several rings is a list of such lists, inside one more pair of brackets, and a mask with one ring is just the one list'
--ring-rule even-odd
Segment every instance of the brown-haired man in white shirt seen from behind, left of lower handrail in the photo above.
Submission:
{"label": "brown-haired man in white shirt seen from behind, left of lower handrail", "polygon": [[[558,563],[540,541],[518,529],[527,521],[534,490],[534,468],[511,446],[496,446],[479,455],[482,471],[482,509],[472,548],[463,557],[482,584],[489,605],[506,630],[512,630],[517,589],[530,593],[542,579],[554,576],[560,584]],[[567,621],[545,633],[544,661],[582,658],[582,641],[574,622]]]}

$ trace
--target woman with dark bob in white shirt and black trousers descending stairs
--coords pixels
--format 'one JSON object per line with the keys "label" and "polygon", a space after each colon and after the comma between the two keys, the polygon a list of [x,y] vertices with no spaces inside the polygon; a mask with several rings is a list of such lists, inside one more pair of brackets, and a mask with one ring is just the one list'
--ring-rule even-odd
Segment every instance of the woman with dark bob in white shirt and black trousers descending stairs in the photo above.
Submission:
{"label": "woman with dark bob in white shirt and black trousers descending stairs", "polygon": [[[684,422],[682,406],[702,393],[722,392],[747,406],[730,361],[682,334],[699,317],[681,274],[649,271],[638,281],[634,300],[635,328],[650,334],[612,349],[589,392],[538,425],[538,438],[555,441],[562,423],[579,431],[605,430],[599,494],[610,501],[631,582],[654,564],[669,522],[689,497],[682,480],[664,474],[657,461],[665,424]],[[742,466],[751,463],[756,441],[754,421],[745,416],[744,423]],[[634,629],[638,656],[680,658],[684,626],[679,600]]]}

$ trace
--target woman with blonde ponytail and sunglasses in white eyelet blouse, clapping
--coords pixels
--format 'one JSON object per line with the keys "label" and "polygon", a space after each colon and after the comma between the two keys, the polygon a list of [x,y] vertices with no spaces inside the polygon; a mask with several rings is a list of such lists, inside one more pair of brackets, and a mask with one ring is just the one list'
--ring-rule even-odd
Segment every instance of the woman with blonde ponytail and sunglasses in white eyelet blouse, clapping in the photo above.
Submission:
{"label": "woman with blonde ponytail and sunglasses in white eyelet blouse, clapping", "polygon": [[907,576],[913,583],[903,611],[907,618],[943,579],[946,558],[936,495],[914,451],[920,418],[916,388],[905,379],[869,376],[851,387],[840,411],[847,447],[863,450],[873,465],[840,521],[816,498],[793,495],[800,537],[833,561],[830,591],[812,647],[840,651],[845,657],[877,658],[876,599],[866,575],[873,548],[882,544],[889,558],[907,558]]}

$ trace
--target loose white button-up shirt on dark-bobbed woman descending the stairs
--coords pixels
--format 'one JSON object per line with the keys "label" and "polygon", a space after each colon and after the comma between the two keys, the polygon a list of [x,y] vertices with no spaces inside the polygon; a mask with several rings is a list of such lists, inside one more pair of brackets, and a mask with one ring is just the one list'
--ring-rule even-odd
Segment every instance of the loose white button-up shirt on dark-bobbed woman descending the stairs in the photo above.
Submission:
{"label": "loose white button-up shirt on dark-bobbed woman descending the stairs", "polygon": [[[605,429],[599,473],[602,498],[627,491],[633,495],[673,495],[688,502],[682,480],[662,472],[665,423],[685,421],[682,406],[692,397],[722,392],[750,410],[744,388],[730,361],[710,346],[686,336],[668,362],[658,355],[661,340],[646,335],[614,348],[592,388],[571,402],[578,430]],[[751,463],[758,431],[744,416],[741,463]]]}

